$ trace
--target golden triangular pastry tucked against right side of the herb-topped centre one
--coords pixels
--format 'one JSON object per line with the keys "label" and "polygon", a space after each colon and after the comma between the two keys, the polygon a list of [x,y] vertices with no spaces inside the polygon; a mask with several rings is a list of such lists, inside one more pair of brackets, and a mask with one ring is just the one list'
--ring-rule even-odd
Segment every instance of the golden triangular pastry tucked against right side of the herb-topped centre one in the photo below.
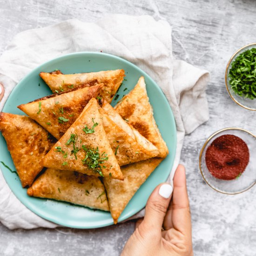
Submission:
{"label": "golden triangular pastry tucked against right side of the herb-topped centre one", "polygon": [[158,149],[129,126],[107,101],[103,100],[100,113],[108,141],[120,166],[146,160],[159,154]]}

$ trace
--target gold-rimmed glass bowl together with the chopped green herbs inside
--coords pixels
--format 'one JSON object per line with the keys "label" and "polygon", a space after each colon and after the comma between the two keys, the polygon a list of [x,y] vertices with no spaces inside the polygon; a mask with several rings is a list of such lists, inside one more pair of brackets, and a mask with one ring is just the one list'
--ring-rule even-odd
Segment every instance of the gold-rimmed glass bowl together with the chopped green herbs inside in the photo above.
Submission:
{"label": "gold-rimmed glass bowl together with the chopped green herbs inside", "polygon": [[243,108],[256,110],[256,43],[239,49],[225,74],[229,96]]}

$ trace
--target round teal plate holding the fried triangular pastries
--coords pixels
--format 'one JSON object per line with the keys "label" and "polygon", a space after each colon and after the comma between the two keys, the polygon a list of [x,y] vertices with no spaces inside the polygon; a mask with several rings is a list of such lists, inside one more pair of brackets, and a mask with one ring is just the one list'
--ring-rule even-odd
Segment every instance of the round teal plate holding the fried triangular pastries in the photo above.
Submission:
{"label": "round teal plate holding the fried triangular pastries", "polygon": [[[120,96],[112,102],[112,105],[115,106],[116,102],[124,94],[127,94],[133,89],[139,77],[143,75],[147,84],[148,97],[154,108],[155,121],[170,152],[128,203],[119,218],[119,222],[121,222],[145,207],[148,196],[153,189],[159,183],[166,181],[175,158],[176,126],[174,115],[162,90],[148,74],[129,61],[110,54],[93,52],[68,54],[42,64],[23,78],[13,89],[2,111],[24,115],[16,106],[51,94],[50,89],[39,76],[41,71],[51,72],[55,69],[60,69],[64,74],[73,74],[119,68],[125,70],[126,80],[123,81],[117,93]],[[2,135],[0,135],[0,145],[0,161],[3,161],[14,170],[15,167],[11,155],[7,150],[6,141]],[[17,175],[11,173],[3,166],[1,166],[1,169],[7,184],[20,202],[35,214],[48,221],[79,229],[100,228],[114,223],[109,212],[71,205],[66,202],[29,197],[27,195],[27,189],[21,187]]]}

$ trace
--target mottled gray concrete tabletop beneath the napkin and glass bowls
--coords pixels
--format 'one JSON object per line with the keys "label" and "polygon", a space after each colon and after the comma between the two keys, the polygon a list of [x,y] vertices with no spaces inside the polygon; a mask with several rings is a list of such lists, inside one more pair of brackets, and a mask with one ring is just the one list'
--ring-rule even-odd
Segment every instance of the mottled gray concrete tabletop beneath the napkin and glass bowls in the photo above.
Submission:
{"label": "mottled gray concrete tabletop beneath the napkin and glass bowls", "polygon": [[[202,180],[198,156],[205,139],[220,128],[256,134],[256,113],[236,105],[224,85],[229,57],[256,41],[254,0],[0,0],[0,53],[21,31],[61,20],[94,21],[106,13],[149,14],[173,27],[176,58],[208,69],[210,120],[185,137],[181,162],[187,167],[195,256],[256,255],[256,186],[222,195]],[[0,224],[0,255],[60,256],[120,254],[134,222],[94,229],[8,230]]]}

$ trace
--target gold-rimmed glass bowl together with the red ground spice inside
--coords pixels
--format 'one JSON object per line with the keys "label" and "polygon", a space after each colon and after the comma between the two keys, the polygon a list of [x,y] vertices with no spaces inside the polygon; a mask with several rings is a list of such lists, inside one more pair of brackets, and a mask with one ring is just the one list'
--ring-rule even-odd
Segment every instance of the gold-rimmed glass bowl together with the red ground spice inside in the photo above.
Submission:
{"label": "gold-rimmed glass bowl together with the red ground spice inside", "polygon": [[256,183],[256,136],[225,128],[204,143],[199,167],[204,181],[218,192],[239,194]]}

